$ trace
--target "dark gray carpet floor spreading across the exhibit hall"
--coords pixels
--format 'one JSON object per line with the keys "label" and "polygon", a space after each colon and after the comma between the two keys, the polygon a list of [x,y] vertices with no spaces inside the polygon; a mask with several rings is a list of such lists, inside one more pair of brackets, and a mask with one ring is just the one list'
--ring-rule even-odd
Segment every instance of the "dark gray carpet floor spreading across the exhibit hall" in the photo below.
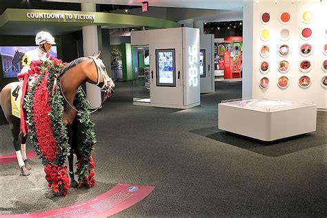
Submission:
{"label": "dark gray carpet floor spreading across the exhibit hall", "polygon": [[[132,83],[119,82],[92,115],[97,185],[54,197],[39,159],[29,177],[4,164],[0,214],[70,206],[123,183],[156,188],[115,217],[326,217],[327,112],[317,132],[262,143],[218,130],[217,103],[237,98],[241,83],[216,82],[188,110],[132,106]],[[8,125],[0,131],[0,155],[11,153]]]}

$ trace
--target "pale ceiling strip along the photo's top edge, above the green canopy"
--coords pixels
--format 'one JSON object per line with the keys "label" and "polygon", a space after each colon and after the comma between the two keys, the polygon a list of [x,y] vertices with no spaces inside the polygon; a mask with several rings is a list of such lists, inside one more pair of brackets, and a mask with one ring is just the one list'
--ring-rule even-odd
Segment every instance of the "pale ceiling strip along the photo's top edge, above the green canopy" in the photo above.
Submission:
{"label": "pale ceiling strip along the photo's top edge, above the green canopy", "polygon": [[43,0],[71,3],[99,3],[125,6],[141,6],[143,1],[148,1],[149,6],[168,8],[201,8],[214,10],[242,10],[244,1],[252,0]]}

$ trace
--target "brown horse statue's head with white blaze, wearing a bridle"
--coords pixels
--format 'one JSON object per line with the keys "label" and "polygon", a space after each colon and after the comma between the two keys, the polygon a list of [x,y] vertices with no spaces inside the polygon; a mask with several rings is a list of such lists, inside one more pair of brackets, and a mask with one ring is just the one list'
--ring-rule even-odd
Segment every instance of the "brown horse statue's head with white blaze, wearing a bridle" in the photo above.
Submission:
{"label": "brown horse statue's head with white blaze, wearing a bridle", "polygon": [[115,83],[108,76],[106,66],[99,58],[100,53],[101,52],[99,51],[93,54],[93,56],[90,56],[90,59],[93,60],[97,68],[97,82],[95,84],[101,88],[102,92],[106,92],[106,97],[109,97],[112,93],[115,92]]}

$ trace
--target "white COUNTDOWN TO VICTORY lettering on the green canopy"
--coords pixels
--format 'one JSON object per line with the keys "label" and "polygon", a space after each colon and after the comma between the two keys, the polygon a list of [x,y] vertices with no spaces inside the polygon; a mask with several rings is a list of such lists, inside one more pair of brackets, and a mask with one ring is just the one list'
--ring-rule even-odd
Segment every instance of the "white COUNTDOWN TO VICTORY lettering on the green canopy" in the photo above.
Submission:
{"label": "white COUNTDOWN TO VICTORY lettering on the green canopy", "polygon": [[30,19],[66,19],[79,21],[95,20],[95,14],[27,12],[26,17]]}

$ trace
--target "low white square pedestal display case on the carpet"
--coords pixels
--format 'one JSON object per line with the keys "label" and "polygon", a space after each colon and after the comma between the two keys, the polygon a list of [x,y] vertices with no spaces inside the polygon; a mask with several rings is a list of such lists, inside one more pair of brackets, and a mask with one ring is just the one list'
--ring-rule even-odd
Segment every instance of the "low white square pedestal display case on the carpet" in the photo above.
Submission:
{"label": "low white square pedestal display case on the carpet", "polygon": [[218,128],[261,141],[316,130],[317,105],[297,101],[250,99],[218,104]]}

